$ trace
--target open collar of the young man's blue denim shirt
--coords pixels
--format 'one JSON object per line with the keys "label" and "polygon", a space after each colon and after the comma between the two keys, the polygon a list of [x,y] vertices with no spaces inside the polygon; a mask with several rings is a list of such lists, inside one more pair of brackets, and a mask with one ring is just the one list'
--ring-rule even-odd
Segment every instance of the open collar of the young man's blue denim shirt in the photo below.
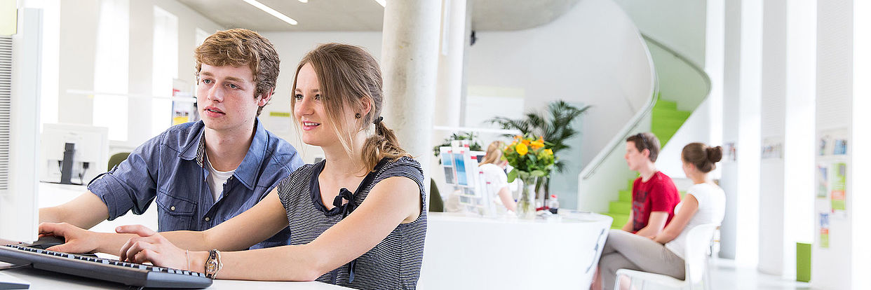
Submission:
{"label": "open collar of the young man's blue denim shirt", "polygon": [[[202,121],[199,121],[198,125],[202,125]],[[179,154],[179,157],[186,160],[196,158],[197,165],[203,167],[206,156],[205,136],[205,125],[201,126],[198,131],[192,132],[192,136],[188,138],[186,148]],[[251,145],[248,146],[248,152],[245,154],[245,158],[242,159],[242,163],[239,167],[236,167],[236,172],[233,172],[233,176],[239,179],[250,190],[253,190],[254,186],[257,185],[257,178],[260,176],[260,165],[263,164],[268,144],[268,133],[263,128],[263,125],[260,124],[260,118],[255,118],[254,138],[251,140]]]}

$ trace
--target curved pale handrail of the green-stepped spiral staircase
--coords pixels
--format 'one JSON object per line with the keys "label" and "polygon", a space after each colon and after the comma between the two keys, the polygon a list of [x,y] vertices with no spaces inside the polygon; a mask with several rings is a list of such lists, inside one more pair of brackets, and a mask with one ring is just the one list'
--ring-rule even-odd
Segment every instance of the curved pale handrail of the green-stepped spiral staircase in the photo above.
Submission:
{"label": "curved pale handrail of the green-stepped spiral staircase", "polygon": [[[648,42],[650,42],[651,44],[654,44],[654,45],[658,46],[659,48],[661,48],[665,51],[668,51],[674,57],[678,57],[680,60],[684,61],[686,64],[689,64],[693,70],[698,71],[699,75],[701,75],[702,78],[704,79],[705,84],[706,84],[706,88],[707,88],[704,98],[707,98],[711,94],[711,78],[708,77],[705,70],[702,69],[701,67],[699,67],[698,64],[695,64],[694,62],[692,62],[692,60],[685,57],[683,54],[679,53],[678,51],[673,50],[672,48],[668,47],[668,45],[663,44],[662,42],[654,39],[653,37],[650,37],[650,36],[640,32],[640,31],[638,32],[638,35],[640,37],[644,38],[645,40],[647,40]],[[638,126],[638,124],[641,123],[641,121],[644,120],[644,118],[647,117],[647,115],[651,114],[651,112],[653,111],[653,105],[656,105],[657,96],[659,95],[659,77],[658,77],[658,73],[656,71],[656,67],[653,64],[653,57],[651,56],[650,50],[647,49],[647,44],[645,42],[642,42],[642,44],[645,45],[645,51],[647,52],[647,59],[650,61],[651,71],[652,71],[652,75],[653,75],[652,82],[654,84],[653,84],[653,89],[652,89],[652,93],[651,93],[651,98],[647,100],[647,102],[645,103],[645,106],[642,107],[641,110],[639,110],[638,112],[635,113],[634,116],[632,116],[629,123],[627,123],[622,129],[620,129],[620,131],[618,132],[617,135],[614,136],[614,138],[611,138],[611,140],[608,141],[608,144],[605,145],[605,147],[604,147],[605,149],[603,151],[598,152],[598,154],[596,154],[596,157],[592,158],[591,162],[588,165],[584,166],[584,169],[581,170],[581,174],[580,174],[583,179],[589,179],[593,175],[593,173],[596,172],[598,167],[601,166],[602,163],[604,162],[605,158],[608,158],[609,156],[611,156],[611,153],[613,153],[615,150],[617,150],[619,148],[620,144],[623,144],[625,138],[628,138],[630,133]]]}

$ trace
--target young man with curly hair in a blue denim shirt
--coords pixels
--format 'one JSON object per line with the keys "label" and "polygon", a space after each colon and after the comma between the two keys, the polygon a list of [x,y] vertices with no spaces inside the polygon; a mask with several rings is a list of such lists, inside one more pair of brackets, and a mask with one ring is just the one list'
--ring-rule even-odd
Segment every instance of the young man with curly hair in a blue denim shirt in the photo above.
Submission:
{"label": "young man with curly hair in a blue denim shirt", "polygon": [[[302,160],[257,116],[272,98],[279,57],[251,30],[218,31],[194,52],[202,120],[139,145],[70,202],[39,210],[41,222],[91,228],[156,199],[159,231],[203,231],[264,199]],[[288,230],[254,246],[287,245]],[[260,240],[258,240],[260,242]]]}

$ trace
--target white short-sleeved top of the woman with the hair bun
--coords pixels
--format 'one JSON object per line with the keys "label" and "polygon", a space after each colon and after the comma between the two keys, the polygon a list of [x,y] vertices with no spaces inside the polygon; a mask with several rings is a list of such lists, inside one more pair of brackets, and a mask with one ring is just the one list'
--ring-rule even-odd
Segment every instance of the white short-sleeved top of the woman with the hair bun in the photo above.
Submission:
{"label": "white short-sleeved top of the woman with the hair bun", "polygon": [[[723,192],[723,189],[719,188],[719,186],[707,183],[692,185],[690,189],[686,190],[686,194],[692,194],[699,201],[699,211],[692,215],[692,218],[677,238],[665,243],[665,248],[677,254],[681,259],[685,258],[686,233],[689,233],[693,227],[703,224],[719,225],[723,222],[723,216],[726,214],[726,192]],[[675,215],[678,214],[683,204],[684,202],[681,201],[678,206],[674,207]]]}

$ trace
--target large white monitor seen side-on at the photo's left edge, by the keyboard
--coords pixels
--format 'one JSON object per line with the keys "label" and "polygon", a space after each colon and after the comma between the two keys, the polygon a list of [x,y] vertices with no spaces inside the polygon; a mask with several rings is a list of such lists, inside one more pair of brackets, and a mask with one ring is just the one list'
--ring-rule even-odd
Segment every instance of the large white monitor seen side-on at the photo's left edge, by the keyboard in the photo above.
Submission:
{"label": "large white monitor seen side-on at the photo's left edge, by the keyboard", "polygon": [[25,242],[37,239],[42,15],[19,9],[17,33],[0,37],[0,238]]}

